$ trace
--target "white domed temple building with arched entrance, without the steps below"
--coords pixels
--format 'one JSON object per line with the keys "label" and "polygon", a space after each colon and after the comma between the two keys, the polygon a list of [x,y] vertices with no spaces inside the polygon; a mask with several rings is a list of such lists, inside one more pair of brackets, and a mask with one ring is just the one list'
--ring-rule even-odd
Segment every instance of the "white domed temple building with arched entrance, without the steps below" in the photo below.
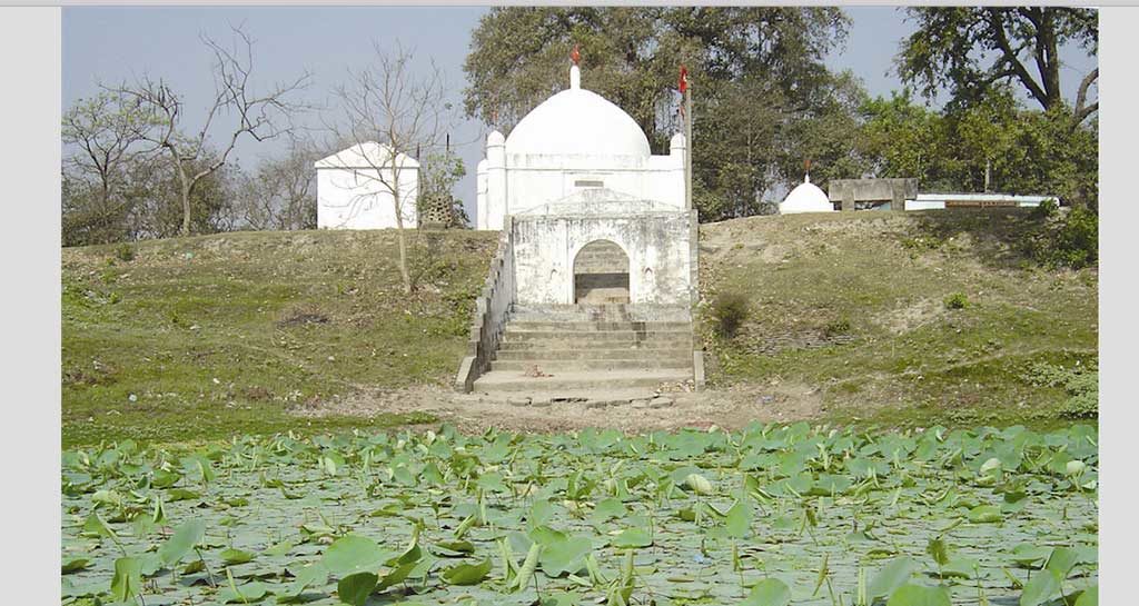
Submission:
{"label": "white domed temple building with arched entrance, without the steps below", "polygon": [[696,212],[682,134],[654,156],[637,122],[581,87],[494,131],[477,167],[478,229],[508,232],[515,303],[689,305]]}

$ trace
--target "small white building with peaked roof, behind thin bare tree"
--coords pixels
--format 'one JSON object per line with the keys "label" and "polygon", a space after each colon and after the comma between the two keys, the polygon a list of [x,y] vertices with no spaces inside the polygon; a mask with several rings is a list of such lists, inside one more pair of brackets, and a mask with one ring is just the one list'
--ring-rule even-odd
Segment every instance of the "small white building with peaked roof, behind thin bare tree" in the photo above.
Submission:
{"label": "small white building with peaked roof, behind thin bare tree", "polygon": [[399,193],[403,227],[418,222],[419,163],[375,141],[354,145],[316,162],[317,227],[385,229],[398,227],[393,194]]}

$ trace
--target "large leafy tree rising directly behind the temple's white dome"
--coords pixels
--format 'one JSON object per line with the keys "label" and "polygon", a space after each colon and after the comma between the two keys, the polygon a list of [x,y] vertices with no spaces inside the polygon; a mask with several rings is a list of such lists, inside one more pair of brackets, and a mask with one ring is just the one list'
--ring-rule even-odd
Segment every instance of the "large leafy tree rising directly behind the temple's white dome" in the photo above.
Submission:
{"label": "large leafy tree rising directly behind the temple's white dome", "polygon": [[[843,155],[822,136],[828,122],[844,121],[836,112],[854,124],[858,103],[842,98],[858,83],[836,79],[823,58],[847,26],[836,8],[499,8],[472,36],[465,108],[509,130],[566,87],[576,43],[583,85],[625,109],[650,147],[665,153],[679,130],[675,89],[685,64],[695,95],[693,195],[700,219],[754,214],[772,186],[802,179],[804,155]],[[814,138],[818,149],[804,148],[802,137]]]}

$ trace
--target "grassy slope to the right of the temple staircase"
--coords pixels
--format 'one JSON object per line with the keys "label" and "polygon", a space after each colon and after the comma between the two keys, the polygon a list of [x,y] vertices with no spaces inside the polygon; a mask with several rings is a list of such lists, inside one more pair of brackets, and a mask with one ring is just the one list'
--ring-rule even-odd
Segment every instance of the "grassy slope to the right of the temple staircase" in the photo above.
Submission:
{"label": "grassy slope to the right of the temple staircase", "polygon": [[[704,298],[751,303],[734,339],[705,319],[711,379],[818,387],[839,423],[1062,425],[1067,392],[1024,374],[1033,362],[1096,365],[1098,277],[1033,263],[1033,221],[1001,210],[705,226]],[[947,305],[954,295],[967,304]]]}

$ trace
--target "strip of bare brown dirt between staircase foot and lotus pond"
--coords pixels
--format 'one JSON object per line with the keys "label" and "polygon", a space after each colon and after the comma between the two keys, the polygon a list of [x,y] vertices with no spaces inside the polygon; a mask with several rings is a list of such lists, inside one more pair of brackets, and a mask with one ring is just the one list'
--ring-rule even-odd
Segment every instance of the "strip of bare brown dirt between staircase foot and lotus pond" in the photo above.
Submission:
{"label": "strip of bare brown dirt between staircase foot and lotus pond", "polygon": [[818,388],[803,385],[746,386],[704,392],[664,391],[655,394],[598,392],[589,398],[526,394],[457,394],[443,387],[361,390],[352,396],[313,402],[294,410],[302,417],[425,412],[460,431],[489,427],[515,432],[563,432],[611,427],[628,433],[682,427],[739,429],[763,423],[811,419],[821,413]]}

